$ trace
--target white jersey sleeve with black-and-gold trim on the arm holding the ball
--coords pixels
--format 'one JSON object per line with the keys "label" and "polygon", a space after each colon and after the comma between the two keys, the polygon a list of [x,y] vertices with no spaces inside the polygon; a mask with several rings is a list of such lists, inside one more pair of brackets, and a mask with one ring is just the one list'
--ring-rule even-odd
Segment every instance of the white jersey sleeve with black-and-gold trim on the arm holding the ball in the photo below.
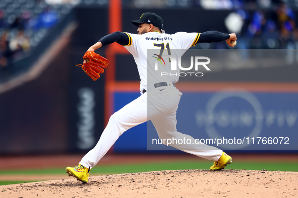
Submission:
{"label": "white jersey sleeve with black-and-gold trim on the arm holding the ball", "polygon": [[199,41],[200,35],[201,33],[187,32],[177,32],[173,34],[182,49],[189,49],[190,47],[195,46]]}

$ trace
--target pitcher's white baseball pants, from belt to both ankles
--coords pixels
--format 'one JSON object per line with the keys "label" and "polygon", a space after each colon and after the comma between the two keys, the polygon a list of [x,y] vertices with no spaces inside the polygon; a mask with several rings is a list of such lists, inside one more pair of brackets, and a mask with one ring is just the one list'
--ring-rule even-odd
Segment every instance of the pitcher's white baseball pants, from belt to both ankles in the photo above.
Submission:
{"label": "pitcher's white baseball pants, from belt to both ankles", "polygon": [[[176,130],[176,111],[182,93],[175,87],[150,88],[109,119],[96,146],[90,150],[79,164],[93,167],[107,153],[115,141],[128,129],[148,120],[153,123],[160,139],[195,139]],[[147,98],[148,97],[148,98]],[[222,150],[208,145],[169,144],[176,149],[193,155],[217,161]]]}

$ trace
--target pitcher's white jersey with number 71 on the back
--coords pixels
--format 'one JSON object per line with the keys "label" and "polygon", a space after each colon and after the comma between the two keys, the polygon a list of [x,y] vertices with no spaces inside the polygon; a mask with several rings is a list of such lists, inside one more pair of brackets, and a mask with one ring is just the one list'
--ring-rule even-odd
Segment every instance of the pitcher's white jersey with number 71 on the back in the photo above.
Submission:
{"label": "pitcher's white jersey with number 71 on the back", "polygon": [[[157,82],[177,82],[179,76],[168,75],[161,76],[160,70],[156,71],[154,65],[148,65],[147,67],[147,49],[159,49],[162,50],[159,55],[167,55],[170,53],[170,49],[181,49],[180,54],[175,56],[181,57],[187,49],[197,44],[200,33],[187,33],[177,32],[175,34],[161,34],[159,32],[149,32],[146,34],[131,34],[126,33],[129,36],[129,44],[124,46],[133,56],[138,66],[139,75],[141,79],[140,91],[147,90],[147,85]],[[170,55],[170,54],[168,54]],[[173,54],[172,54],[173,55]],[[149,57],[148,57],[149,58]],[[165,65],[169,63],[168,58],[163,59]],[[170,72],[170,67],[160,67],[164,71]],[[180,72],[177,70],[177,72]]]}

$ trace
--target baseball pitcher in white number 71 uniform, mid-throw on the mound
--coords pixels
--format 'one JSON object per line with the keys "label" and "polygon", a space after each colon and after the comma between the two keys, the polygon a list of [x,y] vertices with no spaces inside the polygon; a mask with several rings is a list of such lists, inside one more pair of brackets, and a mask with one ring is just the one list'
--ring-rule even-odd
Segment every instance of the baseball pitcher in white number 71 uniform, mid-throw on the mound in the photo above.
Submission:
{"label": "baseball pitcher in white number 71 uniform, mid-throw on the mound", "polygon": [[[147,65],[147,49],[158,49],[160,53],[156,55],[160,58],[168,54],[170,49],[182,49],[180,52],[180,56],[182,56],[187,49],[198,43],[226,41],[227,45],[234,47],[233,44],[237,40],[235,34],[215,31],[166,34],[162,30],[162,18],[155,13],[144,13],[139,20],[132,21],[132,23],[138,27],[138,34],[114,32],[102,37],[87,50],[83,57],[83,64],[77,65],[81,66],[93,80],[98,79],[99,74],[104,72],[109,61],[94,51],[117,42],[133,55],[141,79],[140,96],[110,117],[98,143],[82,158],[78,166],[66,168],[66,172],[70,176],[74,176],[84,183],[88,181],[91,168],[106,154],[118,137],[128,129],[149,120],[153,123],[160,139],[188,138],[195,141],[193,137],[176,130],[176,111],[182,95],[175,87],[178,77],[160,78],[160,73],[158,74],[152,68],[154,65]],[[167,59],[163,58],[163,60],[169,61]],[[170,72],[170,68],[163,67],[163,69]],[[227,164],[232,162],[232,158],[222,150],[208,145],[189,148],[186,145],[173,142],[170,146],[198,157],[213,160],[214,164],[210,167],[211,170],[224,169]]]}

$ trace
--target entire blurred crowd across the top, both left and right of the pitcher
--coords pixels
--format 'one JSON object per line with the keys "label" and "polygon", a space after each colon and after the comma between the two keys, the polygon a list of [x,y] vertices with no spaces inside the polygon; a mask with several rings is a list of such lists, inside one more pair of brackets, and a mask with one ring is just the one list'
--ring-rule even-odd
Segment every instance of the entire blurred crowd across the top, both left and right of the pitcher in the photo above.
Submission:
{"label": "entire blurred crowd across the top, both left and right of the pitcher", "polygon": [[[293,11],[298,10],[296,0],[122,0],[122,2],[124,7],[134,8],[153,8],[152,5],[155,5],[156,8],[188,6],[205,10],[230,10],[231,15],[228,17],[230,22],[226,23],[226,28],[229,32],[237,33],[238,48],[298,48],[298,28]],[[47,30],[58,23],[63,9],[56,9],[53,5],[57,4],[106,6],[108,1],[0,0],[0,68],[24,57],[30,48],[42,40]],[[229,27],[231,24],[233,27]]]}

